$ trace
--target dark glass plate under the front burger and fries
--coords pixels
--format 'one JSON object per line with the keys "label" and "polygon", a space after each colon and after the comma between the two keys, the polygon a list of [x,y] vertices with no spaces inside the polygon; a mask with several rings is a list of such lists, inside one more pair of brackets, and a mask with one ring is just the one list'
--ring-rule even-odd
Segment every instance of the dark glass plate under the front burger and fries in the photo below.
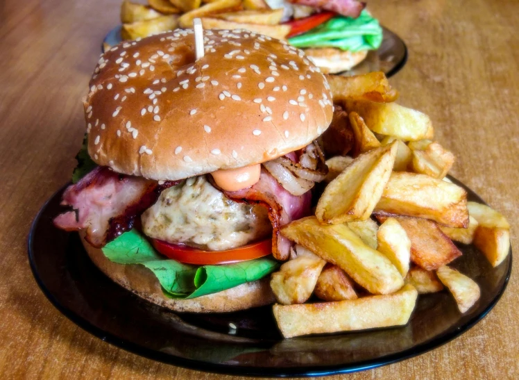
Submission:
{"label": "dark glass plate under the front burger and fries", "polygon": [[[356,372],[402,361],[473,327],[500,299],[511,273],[511,254],[493,268],[475,247],[459,245],[463,256],[452,266],[481,287],[481,298],[465,315],[444,291],[419,296],[405,327],[284,340],[271,306],[228,314],[173,313],[113,283],[92,264],[77,233],[53,226],[52,218],[62,210],[62,190],[40,210],[28,237],[31,269],[46,297],[106,342],[194,370],[295,377]],[[482,202],[466,190],[470,200]],[[231,322],[237,326],[235,333],[230,333]]]}

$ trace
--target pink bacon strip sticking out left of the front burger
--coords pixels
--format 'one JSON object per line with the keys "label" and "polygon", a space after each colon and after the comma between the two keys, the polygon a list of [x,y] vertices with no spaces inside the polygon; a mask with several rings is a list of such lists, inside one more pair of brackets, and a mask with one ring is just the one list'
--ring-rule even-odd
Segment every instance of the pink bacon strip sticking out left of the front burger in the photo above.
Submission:
{"label": "pink bacon strip sticking out left of the front burger", "polygon": [[180,181],[157,181],[96,167],[63,193],[61,204],[74,210],[58,215],[54,224],[66,231],[86,231],[85,239],[103,247],[133,228],[135,218],[157,201],[162,190]]}

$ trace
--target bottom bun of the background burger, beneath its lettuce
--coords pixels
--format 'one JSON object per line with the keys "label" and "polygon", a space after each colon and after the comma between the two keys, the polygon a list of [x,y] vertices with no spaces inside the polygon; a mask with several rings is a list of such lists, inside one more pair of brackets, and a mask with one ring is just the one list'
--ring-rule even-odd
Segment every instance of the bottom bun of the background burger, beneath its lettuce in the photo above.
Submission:
{"label": "bottom bun of the background burger, beneath its lettuce", "polygon": [[305,49],[305,54],[312,59],[324,74],[336,74],[352,69],[352,67],[361,63],[368,55],[368,51],[361,50],[352,53],[351,51],[343,51],[333,47],[320,47]]}

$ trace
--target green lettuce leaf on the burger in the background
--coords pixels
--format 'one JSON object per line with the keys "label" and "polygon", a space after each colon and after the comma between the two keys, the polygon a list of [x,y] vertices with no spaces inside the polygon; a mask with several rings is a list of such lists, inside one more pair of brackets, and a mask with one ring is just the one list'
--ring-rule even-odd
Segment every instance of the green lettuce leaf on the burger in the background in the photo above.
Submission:
{"label": "green lettuce leaf on the burger in the background", "polygon": [[311,31],[289,38],[295,47],[335,47],[361,51],[378,49],[382,44],[382,27],[365,10],[356,19],[337,16]]}

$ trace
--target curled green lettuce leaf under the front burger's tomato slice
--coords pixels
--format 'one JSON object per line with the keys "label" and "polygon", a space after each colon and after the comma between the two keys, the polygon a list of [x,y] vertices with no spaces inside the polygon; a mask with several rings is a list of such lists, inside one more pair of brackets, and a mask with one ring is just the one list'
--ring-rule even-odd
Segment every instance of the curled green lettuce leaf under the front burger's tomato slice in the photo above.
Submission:
{"label": "curled green lettuce leaf under the front burger's tomato slice", "polygon": [[135,229],[105,245],[103,254],[117,264],[144,265],[155,274],[164,294],[180,299],[200,297],[256,281],[274,272],[279,266],[272,258],[201,267],[182,264],[158,254]]}

